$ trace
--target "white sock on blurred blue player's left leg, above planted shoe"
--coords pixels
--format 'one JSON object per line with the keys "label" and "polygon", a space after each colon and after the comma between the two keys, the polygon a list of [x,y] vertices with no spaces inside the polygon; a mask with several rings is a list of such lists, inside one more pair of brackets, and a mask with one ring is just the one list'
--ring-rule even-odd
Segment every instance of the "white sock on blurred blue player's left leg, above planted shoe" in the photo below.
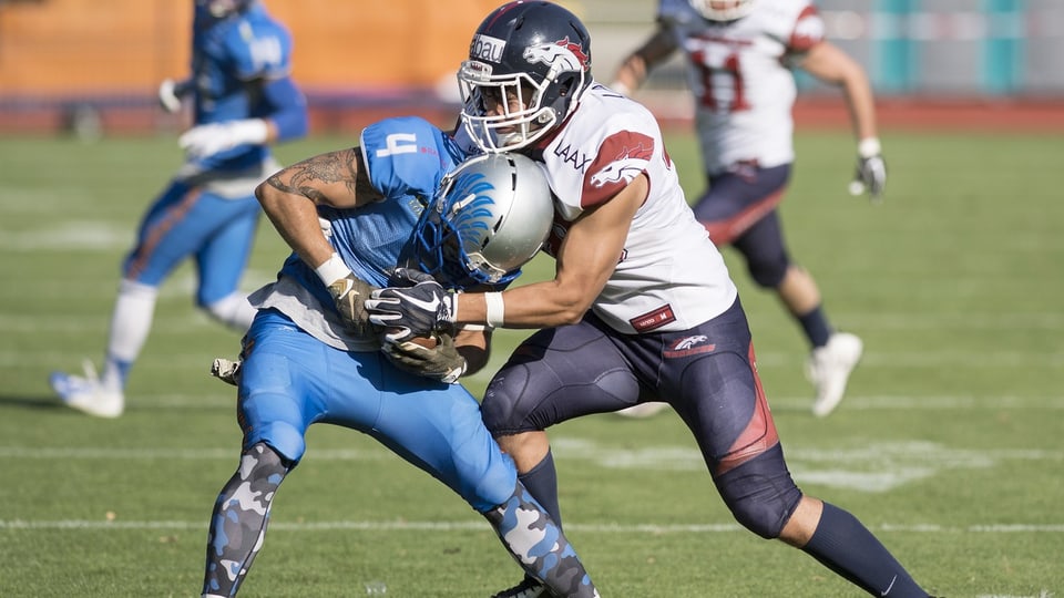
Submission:
{"label": "white sock on blurred blue player's left leg, above planted shoe", "polygon": [[101,378],[104,388],[119,392],[125,388],[130,368],[141,354],[147,333],[152,330],[157,298],[158,289],[151,285],[126,279],[119,285]]}

